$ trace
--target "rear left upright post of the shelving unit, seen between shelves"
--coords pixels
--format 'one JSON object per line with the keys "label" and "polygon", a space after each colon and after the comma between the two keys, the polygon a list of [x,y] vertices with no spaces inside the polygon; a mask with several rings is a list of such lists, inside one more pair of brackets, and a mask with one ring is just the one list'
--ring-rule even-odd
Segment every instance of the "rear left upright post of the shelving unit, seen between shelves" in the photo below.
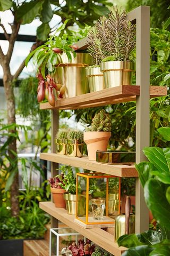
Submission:
{"label": "rear left upright post of the shelving unit, seen between shelves", "polygon": [[[55,145],[55,135],[58,130],[58,110],[53,109],[52,110],[52,153],[56,153],[56,145]],[[58,163],[51,162],[51,175],[54,177],[56,174],[58,174]],[[52,202],[53,202],[53,196],[51,195]],[[58,220],[54,217],[51,217],[51,227],[57,228],[58,227]]]}

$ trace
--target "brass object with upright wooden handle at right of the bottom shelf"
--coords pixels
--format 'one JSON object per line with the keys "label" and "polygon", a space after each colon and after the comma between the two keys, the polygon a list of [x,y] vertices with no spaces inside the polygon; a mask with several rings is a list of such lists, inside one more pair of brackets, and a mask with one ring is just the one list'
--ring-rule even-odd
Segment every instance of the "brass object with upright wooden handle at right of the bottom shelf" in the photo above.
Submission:
{"label": "brass object with upright wooden handle at right of the bottom shelf", "polygon": [[115,218],[115,242],[120,236],[135,233],[135,215],[130,213],[131,199],[126,197],[125,213]]}

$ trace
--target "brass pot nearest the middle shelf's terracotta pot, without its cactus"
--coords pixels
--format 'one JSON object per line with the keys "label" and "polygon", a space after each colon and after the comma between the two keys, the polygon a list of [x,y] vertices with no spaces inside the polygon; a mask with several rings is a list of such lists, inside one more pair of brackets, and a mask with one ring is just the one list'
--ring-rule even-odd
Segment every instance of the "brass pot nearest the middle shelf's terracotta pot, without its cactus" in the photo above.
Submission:
{"label": "brass pot nearest the middle shelf's terracotta pot, without its cactus", "polygon": [[82,157],[83,155],[83,141],[81,140],[67,140],[66,155]]}

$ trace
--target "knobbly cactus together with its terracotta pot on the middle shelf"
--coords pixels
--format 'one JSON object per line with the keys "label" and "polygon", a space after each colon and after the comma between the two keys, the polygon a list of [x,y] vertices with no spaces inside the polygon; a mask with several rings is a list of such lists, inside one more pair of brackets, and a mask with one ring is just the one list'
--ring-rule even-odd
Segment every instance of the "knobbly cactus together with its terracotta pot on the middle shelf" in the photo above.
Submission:
{"label": "knobbly cactus together with its terracotta pot on the middle shelf", "polygon": [[104,109],[92,119],[91,127],[86,127],[84,142],[87,144],[89,160],[96,161],[96,151],[106,151],[111,137],[111,118]]}

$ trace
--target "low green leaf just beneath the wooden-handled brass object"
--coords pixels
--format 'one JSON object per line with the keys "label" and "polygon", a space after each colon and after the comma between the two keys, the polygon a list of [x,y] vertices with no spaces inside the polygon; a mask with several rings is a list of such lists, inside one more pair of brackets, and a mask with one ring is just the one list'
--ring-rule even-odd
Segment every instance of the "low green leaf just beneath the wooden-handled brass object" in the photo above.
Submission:
{"label": "low green leaf just beneath the wooden-handled brass object", "polygon": [[118,246],[125,246],[128,248],[143,245],[143,243],[139,241],[139,237],[136,234],[123,235],[119,237],[117,240],[117,244]]}

